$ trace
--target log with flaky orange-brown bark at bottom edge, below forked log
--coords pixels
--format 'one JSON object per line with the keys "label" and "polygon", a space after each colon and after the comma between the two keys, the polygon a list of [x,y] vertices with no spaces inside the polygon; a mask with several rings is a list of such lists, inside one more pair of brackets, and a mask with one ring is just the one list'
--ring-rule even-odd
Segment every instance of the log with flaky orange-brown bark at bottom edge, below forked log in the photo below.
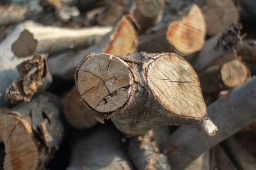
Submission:
{"label": "log with flaky orange-brown bark at bottom edge, below forked log", "polygon": [[138,170],[166,169],[170,170],[166,155],[160,153],[166,136],[170,135],[168,126],[155,127],[141,136],[129,140],[128,153]]}

